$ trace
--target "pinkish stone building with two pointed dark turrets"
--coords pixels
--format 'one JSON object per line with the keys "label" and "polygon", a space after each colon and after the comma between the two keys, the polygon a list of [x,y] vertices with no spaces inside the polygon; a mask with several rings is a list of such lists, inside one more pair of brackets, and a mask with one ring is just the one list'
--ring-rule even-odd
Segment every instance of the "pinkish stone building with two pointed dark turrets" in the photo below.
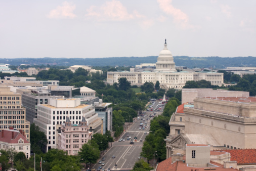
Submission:
{"label": "pinkish stone building with two pointed dark turrets", "polygon": [[82,116],[80,124],[72,124],[69,116],[61,125],[61,133],[58,134],[57,148],[64,150],[69,155],[77,155],[82,145],[91,140],[92,132],[89,131],[86,118]]}

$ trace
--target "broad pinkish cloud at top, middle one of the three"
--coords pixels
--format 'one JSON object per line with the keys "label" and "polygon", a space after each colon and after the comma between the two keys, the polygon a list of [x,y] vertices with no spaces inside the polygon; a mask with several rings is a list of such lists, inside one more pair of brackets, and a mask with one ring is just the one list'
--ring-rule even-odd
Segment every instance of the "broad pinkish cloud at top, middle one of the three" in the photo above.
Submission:
{"label": "broad pinkish cloud at top, middle one of the three", "polygon": [[106,2],[101,7],[91,6],[87,9],[87,19],[96,18],[98,21],[125,21],[135,18],[144,18],[137,11],[129,14],[126,8],[116,0]]}

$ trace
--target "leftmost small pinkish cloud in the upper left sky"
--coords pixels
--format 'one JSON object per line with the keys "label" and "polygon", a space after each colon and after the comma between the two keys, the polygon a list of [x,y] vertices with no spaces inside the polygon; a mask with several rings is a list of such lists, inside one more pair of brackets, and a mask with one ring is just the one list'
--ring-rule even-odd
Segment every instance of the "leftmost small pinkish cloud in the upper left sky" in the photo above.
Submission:
{"label": "leftmost small pinkish cloud in the upper left sky", "polygon": [[58,6],[56,9],[52,10],[47,17],[55,19],[73,19],[76,17],[73,14],[75,10],[75,5],[73,3],[64,2],[62,6]]}

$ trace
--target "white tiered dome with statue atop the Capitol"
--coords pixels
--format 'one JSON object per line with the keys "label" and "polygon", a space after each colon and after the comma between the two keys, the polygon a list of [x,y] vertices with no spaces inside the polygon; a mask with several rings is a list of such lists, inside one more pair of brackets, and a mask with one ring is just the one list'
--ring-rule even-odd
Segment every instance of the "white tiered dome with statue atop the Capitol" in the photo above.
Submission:
{"label": "white tiered dome with statue atop the Capitol", "polygon": [[163,50],[160,52],[157,58],[155,70],[159,72],[176,71],[173,55],[167,49],[166,39]]}

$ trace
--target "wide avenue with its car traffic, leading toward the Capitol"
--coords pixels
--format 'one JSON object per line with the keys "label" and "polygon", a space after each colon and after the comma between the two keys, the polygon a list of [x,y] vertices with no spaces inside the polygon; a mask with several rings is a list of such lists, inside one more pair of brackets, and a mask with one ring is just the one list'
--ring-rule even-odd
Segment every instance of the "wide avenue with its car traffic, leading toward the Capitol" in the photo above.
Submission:
{"label": "wide avenue with its car traffic, leading toward the Capitol", "polygon": [[134,118],[131,125],[124,127],[123,134],[112,143],[112,147],[94,165],[92,170],[130,170],[140,156],[145,137],[149,134],[150,121],[162,114],[164,104],[151,101],[146,111]]}

